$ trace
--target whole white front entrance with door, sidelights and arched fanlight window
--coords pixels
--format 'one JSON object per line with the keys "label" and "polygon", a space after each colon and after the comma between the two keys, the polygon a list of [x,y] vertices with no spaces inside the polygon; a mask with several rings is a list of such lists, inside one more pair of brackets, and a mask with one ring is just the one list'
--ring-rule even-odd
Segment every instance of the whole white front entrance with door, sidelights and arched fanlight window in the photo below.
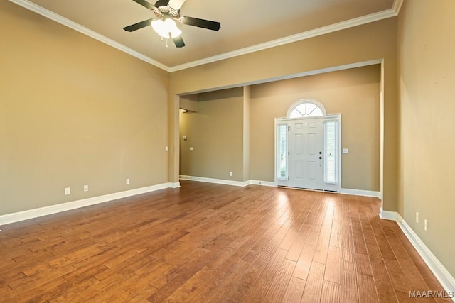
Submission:
{"label": "whole white front entrance with door, sidelights and arched fanlight window", "polygon": [[316,100],[294,103],[275,119],[275,184],[338,192],[341,187],[341,114]]}

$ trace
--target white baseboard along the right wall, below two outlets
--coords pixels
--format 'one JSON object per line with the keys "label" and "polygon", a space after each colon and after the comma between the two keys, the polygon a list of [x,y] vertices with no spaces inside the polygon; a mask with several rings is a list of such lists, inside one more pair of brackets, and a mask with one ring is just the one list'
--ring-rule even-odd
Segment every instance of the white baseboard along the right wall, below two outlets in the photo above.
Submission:
{"label": "white baseboard along the right wall, below two outlets", "polygon": [[[417,250],[417,253],[422,257],[428,268],[433,272],[441,286],[446,292],[455,291],[455,278],[450,272],[442,265],[442,263],[436,258],[431,250],[425,245],[425,243],[417,236],[412,228],[406,223],[405,219],[400,216],[396,211],[383,211],[380,210],[380,217],[382,219],[396,221],[400,226],[406,238],[411,242],[412,246]],[[455,297],[451,298],[455,302]]]}

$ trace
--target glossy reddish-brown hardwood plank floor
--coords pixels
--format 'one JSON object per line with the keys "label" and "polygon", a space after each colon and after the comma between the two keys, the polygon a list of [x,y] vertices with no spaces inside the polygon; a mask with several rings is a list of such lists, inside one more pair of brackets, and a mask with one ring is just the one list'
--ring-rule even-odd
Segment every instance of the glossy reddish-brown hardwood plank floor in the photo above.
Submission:
{"label": "glossy reddish-brown hardwood plank floor", "polygon": [[181,181],[1,226],[0,302],[451,302],[379,208]]}

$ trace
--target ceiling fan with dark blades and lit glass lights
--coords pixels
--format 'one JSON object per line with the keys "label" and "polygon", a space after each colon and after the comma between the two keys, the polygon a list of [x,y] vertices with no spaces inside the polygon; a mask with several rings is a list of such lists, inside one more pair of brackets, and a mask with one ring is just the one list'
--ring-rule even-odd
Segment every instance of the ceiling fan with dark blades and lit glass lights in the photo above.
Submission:
{"label": "ceiling fan with dark blades and lit glass lights", "polygon": [[123,29],[125,31],[132,32],[151,25],[151,27],[154,28],[154,31],[156,31],[161,38],[172,39],[177,48],[183,48],[185,43],[181,37],[181,30],[178,29],[175,21],[186,24],[187,26],[197,26],[200,28],[207,28],[212,31],[218,31],[221,28],[220,22],[180,16],[180,8],[185,0],[158,0],[154,5],[145,0],[133,1],[137,4],[141,4],[141,6],[144,6],[146,9],[153,11],[156,18],[134,23],[131,26],[124,27]]}

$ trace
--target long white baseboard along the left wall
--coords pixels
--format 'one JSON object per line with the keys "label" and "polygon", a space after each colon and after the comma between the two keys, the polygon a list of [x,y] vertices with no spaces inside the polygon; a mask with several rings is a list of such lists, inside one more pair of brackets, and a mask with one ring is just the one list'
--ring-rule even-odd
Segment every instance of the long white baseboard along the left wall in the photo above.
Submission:
{"label": "long white baseboard along the left wall", "polygon": [[124,192],[116,192],[113,194],[104,194],[98,197],[92,197],[72,202],[66,202],[61,204],[55,204],[50,206],[40,207],[38,209],[28,209],[26,211],[18,211],[12,214],[4,214],[0,216],[0,226],[4,224],[10,224],[18,221],[38,218],[39,216],[47,216],[49,214],[56,214],[62,211],[69,211],[72,209],[78,209],[80,207],[90,206],[94,204],[100,204],[109,202],[115,199],[121,199],[131,197],[137,194],[145,194],[147,192],[154,192],[160,189],[174,188],[177,183],[162,183],[151,185],[148,187],[141,187],[137,189],[130,189]]}

